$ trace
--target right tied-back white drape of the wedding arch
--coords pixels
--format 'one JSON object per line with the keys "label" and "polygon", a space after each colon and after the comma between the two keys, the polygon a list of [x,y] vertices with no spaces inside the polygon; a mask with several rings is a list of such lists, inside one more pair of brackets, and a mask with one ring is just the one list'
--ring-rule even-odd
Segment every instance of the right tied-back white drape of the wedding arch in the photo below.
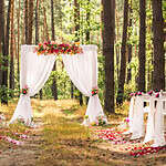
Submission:
{"label": "right tied-back white drape of the wedding arch", "polygon": [[83,53],[77,55],[62,55],[65,70],[74,85],[85,95],[90,96],[86,114],[90,123],[103,115],[98,95],[91,95],[91,90],[97,87],[97,46],[84,45]]}

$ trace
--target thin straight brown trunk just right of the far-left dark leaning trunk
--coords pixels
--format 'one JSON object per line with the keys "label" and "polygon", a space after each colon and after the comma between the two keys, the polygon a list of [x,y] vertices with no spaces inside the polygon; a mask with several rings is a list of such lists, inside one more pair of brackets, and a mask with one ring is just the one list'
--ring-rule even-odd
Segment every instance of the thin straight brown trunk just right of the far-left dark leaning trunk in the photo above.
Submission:
{"label": "thin straight brown trunk just right of the far-left dark leaning trunk", "polygon": [[[14,0],[11,0],[11,38],[10,38],[10,84],[9,87],[11,90],[14,90]],[[12,96],[12,94],[10,94]]]}

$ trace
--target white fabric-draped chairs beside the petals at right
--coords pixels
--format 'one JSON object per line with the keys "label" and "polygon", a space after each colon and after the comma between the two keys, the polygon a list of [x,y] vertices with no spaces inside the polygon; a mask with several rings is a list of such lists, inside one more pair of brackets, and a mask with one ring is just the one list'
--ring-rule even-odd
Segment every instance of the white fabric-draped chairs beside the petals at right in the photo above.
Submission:
{"label": "white fabric-draped chairs beside the petals at right", "polygon": [[[146,113],[147,124],[145,125],[144,114]],[[142,93],[132,97],[129,133],[132,133],[132,139],[145,136],[144,143],[153,139],[155,146],[166,143],[166,92],[160,91],[151,95]]]}

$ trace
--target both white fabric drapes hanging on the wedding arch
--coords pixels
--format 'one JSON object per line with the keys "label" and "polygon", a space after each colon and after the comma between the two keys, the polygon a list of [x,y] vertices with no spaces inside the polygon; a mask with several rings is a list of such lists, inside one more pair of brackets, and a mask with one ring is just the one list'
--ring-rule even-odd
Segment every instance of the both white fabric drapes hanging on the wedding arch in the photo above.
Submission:
{"label": "both white fabric drapes hanging on the wedding arch", "polygon": [[[48,81],[58,54],[38,55],[34,52],[37,45],[21,45],[20,87],[28,93],[21,94],[17,108],[10,123],[21,117],[25,124],[31,123],[32,107],[30,97],[35,95]],[[104,112],[97,93],[92,90],[97,87],[97,46],[82,45],[82,52],[69,55],[62,54],[64,68],[73,84],[85,95],[90,96],[85,115],[90,123],[96,121]],[[85,124],[85,121],[83,122]]]}

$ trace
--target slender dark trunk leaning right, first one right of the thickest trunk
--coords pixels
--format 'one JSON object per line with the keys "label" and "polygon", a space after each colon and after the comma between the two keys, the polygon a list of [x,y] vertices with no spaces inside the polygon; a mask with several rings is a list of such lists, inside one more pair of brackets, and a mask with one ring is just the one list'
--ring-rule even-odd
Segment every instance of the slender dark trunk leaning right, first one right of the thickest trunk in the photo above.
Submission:
{"label": "slender dark trunk leaning right, first one right of the thickest trunk", "polygon": [[128,24],[128,0],[124,1],[124,19],[123,19],[123,37],[122,37],[122,48],[121,48],[121,69],[118,79],[118,91],[116,104],[123,104],[124,96],[124,84],[126,77],[126,40],[127,40],[127,24]]}

